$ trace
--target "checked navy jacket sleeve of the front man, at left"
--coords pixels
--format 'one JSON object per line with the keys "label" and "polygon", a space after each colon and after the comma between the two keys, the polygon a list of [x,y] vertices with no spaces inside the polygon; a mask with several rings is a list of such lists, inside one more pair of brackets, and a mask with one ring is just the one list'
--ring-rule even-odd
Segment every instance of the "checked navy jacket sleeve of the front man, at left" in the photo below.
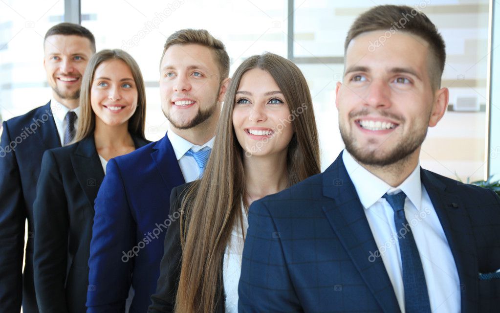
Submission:
{"label": "checked navy jacket sleeve of the front man, at left", "polygon": [[302,311],[283,255],[281,238],[262,201],[248,210],[238,284],[238,312]]}

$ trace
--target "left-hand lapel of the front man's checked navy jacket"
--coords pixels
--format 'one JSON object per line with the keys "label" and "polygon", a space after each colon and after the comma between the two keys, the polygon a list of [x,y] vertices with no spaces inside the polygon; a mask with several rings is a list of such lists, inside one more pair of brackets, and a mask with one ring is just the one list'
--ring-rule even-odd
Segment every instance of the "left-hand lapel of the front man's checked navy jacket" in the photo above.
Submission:
{"label": "left-hand lapel of the front man's checked navy jacket", "polygon": [[[323,211],[354,266],[384,312],[399,312],[392,283],[378,251],[342,153],[323,173],[323,195],[332,198]],[[371,257],[370,257],[371,256]]]}

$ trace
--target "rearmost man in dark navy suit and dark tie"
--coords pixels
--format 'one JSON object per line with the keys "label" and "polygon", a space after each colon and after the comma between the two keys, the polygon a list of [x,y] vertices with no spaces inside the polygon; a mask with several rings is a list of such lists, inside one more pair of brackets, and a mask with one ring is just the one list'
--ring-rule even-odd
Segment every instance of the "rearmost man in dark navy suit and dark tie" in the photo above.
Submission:
{"label": "rearmost man in dark navy suit and dark tie", "polygon": [[[37,312],[33,285],[33,211],[36,181],[46,149],[70,142],[75,133],[81,77],[95,52],[88,29],[52,26],[43,41],[43,66],[51,100],[3,122],[0,141],[0,312]],[[24,225],[27,244],[22,271]]]}

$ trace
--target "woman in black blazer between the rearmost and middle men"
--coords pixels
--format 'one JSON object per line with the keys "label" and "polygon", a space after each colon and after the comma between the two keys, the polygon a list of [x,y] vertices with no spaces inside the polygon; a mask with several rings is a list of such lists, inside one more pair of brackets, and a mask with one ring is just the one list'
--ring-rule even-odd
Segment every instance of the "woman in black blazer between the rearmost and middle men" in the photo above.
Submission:
{"label": "woman in black blazer between the rearmost and middle men", "polygon": [[[145,88],[125,51],[86,67],[73,143],[45,151],[33,204],[34,284],[40,312],[85,312],[93,203],[109,158],[145,145]],[[73,134],[74,135],[74,134]]]}

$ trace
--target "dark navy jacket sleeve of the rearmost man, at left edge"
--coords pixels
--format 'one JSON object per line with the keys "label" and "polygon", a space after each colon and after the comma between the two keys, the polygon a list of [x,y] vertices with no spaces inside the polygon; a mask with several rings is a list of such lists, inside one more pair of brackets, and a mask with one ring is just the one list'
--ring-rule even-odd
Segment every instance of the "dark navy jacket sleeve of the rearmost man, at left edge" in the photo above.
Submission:
{"label": "dark navy jacket sleeve of the rearmost man, at left edge", "polygon": [[[7,123],[0,139],[0,312],[21,308],[26,206]],[[22,142],[20,143],[22,144]]]}

